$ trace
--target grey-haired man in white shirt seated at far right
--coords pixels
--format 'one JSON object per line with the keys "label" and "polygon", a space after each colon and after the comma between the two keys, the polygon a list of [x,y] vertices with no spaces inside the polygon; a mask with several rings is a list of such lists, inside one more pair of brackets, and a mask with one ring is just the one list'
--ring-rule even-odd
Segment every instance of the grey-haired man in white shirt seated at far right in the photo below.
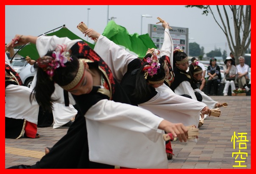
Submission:
{"label": "grey-haired man in white shirt seated at far right", "polygon": [[245,58],[243,56],[240,56],[238,59],[239,65],[236,66],[238,86],[239,88],[245,88],[246,92],[248,92],[250,90],[250,88],[247,86],[250,82],[248,75],[249,66],[245,64]]}

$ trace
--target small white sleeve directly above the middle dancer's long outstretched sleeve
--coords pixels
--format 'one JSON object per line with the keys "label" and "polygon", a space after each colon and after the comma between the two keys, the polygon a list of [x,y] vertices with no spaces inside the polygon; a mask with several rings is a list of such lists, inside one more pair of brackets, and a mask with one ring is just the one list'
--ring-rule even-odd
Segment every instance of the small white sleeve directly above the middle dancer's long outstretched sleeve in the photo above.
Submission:
{"label": "small white sleeve directly above the middle dancer's long outstretched sleeve", "polygon": [[180,83],[180,85],[174,90],[174,92],[178,95],[190,95],[192,99],[197,100],[197,98],[195,97],[195,91],[193,90],[191,84],[188,81],[183,81],[182,83]]}

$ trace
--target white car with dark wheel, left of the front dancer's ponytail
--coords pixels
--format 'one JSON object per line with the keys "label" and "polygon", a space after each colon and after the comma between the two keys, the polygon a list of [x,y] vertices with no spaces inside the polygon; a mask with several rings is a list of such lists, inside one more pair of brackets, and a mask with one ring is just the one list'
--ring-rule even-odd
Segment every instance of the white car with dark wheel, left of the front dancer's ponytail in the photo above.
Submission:
{"label": "white car with dark wheel, left of the front dancer's ponytail", "polygon": [[19,77],[21,78],[22,83],[28,88],[30,87],[35,75],[36,71],[34,67],[30,64],[27,64],[19,73]]}

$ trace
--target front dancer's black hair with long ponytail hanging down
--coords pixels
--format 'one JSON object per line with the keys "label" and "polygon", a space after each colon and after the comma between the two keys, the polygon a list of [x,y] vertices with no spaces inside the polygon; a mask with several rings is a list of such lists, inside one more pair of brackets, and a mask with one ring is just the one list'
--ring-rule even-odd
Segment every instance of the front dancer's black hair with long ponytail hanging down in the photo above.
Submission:
{"label": "front dancer's black hair with long ponytail hanging down", "polygon": [[[51,56],[53,51],[47,52],[46,55]],[[42,61],[42,58],[37,60]],[[38,66],[34,64],[34,67],[37,69],[36,75],[36,85],[33,89],[31,100],[35,97],[36,101],[44,110],[51,111],[53,109],[53,102],[56,100],[51,98],[55,90],[54,83],[57,83],[59,86],[65,86],[69,84],[78,72],[79,61],[78,58],[72,56],[72,61],[69,61],[65,64],[65,67],[59,67],[54,70],[54,75],[50,79],[49,75]]]}

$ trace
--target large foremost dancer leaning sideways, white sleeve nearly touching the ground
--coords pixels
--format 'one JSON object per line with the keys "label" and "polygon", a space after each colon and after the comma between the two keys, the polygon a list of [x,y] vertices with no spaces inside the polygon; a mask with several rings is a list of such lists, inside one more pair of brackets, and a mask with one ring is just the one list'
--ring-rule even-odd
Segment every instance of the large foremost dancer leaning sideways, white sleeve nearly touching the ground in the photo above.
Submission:
{"label": "large foremost dancer leaning sideways, white sleeve nearly touching the ground", "polygon": [[36,101],[51,110],[57,83],[72,94],[78,115],[39,162],[11,168],[168,168],[162,130],[186,141],[182,123],[125,104],[130,101],[109,66],[86,42],[16,35],[7,47],[28,42],[36,44],[40,56],[33,93]]}

